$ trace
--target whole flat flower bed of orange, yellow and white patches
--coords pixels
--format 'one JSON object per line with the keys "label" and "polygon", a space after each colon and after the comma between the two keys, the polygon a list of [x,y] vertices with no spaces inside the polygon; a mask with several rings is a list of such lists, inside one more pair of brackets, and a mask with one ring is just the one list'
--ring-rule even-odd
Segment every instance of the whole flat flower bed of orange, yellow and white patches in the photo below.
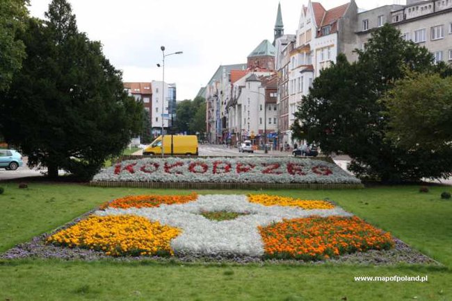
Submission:
{"label": "whole flat flower bed of orange, yellow and white patches", "polygon": [[302,260],[392,247],[390,234],[321,200],[264,194],[205,195],[187,202],[156,205],[158,196],[143,198],[151,199],[152,206],[130,207],[132,203],[125,202],[127,206],[122,207],[127,198],[113,200],[94,216],[53,234],[47,242],[112,256]]}

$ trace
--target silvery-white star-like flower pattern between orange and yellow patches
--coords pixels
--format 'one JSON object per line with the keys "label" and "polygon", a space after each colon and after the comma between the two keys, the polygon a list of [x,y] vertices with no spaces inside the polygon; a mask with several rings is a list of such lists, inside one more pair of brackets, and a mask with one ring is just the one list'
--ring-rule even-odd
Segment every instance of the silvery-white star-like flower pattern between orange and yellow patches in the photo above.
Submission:
{"label": "silvery-white star-like flower pattern between orange and yellow patches", "polygon": [[[202,212],[227,211],[248,213],[234,220],[211,221]],[[340,207],[334,209],[301,209],[299,207],[264,206],[250,203],[245,195],[199,196],[191,203],[161,205],[152,208],[107,209],[95,212],[99,216],[133,214],[150,221],[179,227],[182,233],[171,241],[175,255],[226,257],[264,255],[264,243],[258,226],[277,223],[283,218],[307,216],[353,216]]]}

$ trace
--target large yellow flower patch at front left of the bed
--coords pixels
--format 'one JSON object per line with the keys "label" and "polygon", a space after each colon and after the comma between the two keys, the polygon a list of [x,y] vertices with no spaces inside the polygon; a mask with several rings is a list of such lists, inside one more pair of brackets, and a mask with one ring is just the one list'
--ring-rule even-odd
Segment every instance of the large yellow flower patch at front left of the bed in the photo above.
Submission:
{"label": "large yellow flower patch at front left of the bed", "polygon": [[101,250],[106,255],[174,255],[171,239],[175,227],[152,223],[141,216],[89,216],[76,225],[49,236],[47,243],[70,248]]}

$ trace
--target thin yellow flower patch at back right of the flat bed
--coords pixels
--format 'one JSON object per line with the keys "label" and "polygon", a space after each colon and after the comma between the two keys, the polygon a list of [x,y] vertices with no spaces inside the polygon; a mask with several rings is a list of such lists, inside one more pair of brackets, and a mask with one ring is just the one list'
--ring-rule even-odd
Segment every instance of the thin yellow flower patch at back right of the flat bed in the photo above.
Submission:
{"label": "thin yellow flower patch at back right of the flat bed", "polygon": [[249,194],[248,200],[251,203],[258,203],[264,206],[293,206],[302,209],[332,209],[334,205],[325,200],[300,200],[286,196],[269,196],[268,194]]}

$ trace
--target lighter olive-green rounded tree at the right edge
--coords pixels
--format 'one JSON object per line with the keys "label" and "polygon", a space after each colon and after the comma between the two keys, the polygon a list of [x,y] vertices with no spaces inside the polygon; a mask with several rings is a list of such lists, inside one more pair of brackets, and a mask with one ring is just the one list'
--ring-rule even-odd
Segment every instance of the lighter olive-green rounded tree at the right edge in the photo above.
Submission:
{"label": "lighter olive-green rounded tree at the right edge", "polygon": [[398,80],[385,97],[387,137],[407,149],[451,148],[452,77],[414,74]]}

